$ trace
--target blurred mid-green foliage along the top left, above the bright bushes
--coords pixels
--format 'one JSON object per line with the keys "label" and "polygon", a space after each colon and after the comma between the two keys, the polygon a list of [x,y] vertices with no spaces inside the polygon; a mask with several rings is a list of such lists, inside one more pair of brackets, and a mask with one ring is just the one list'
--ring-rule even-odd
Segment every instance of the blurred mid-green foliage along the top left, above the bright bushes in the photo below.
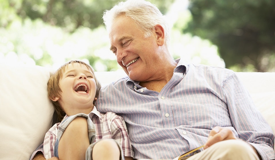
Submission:
{"label": "blurred mid-green foliage along the top left, above the bright bushes", "polygon": [[[61,26],[68,32],[84,26],[91,29],[103,24],[102,14],[118,0],[0,0],[5,8],[14,10],[22,19],[42,19],[45,23]],[[174,0],[152,0],[163,14]],[[8,21],[6,22],[8,23]],[[3,26],[3,24],[2,24]]]}

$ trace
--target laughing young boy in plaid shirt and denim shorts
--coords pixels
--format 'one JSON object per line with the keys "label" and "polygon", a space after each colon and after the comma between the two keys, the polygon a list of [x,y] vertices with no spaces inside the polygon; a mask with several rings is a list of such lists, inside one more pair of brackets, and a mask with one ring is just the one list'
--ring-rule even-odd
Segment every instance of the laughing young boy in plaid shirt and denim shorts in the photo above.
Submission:
{"label": "laughing young boy in plaid shirt and denim shorts", "polygon": [[50,77],[48,96],[63,120],[45,135],[46,159],[133,159],[123,118],[94,106],[100,88],[93,68],[82,61],[69,61]]}

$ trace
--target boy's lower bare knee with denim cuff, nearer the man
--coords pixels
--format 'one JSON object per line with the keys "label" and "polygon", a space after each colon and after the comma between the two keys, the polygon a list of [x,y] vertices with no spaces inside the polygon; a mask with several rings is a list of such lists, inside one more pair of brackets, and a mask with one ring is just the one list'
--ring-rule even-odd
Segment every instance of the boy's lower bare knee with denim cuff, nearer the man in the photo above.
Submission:
{"label": "boy's lower bare knee with denim cuff, nearer the man", "polygon": [[86,152],[86,160],[124,160],[120,144],[114,139],[102,139],[91,144]]}

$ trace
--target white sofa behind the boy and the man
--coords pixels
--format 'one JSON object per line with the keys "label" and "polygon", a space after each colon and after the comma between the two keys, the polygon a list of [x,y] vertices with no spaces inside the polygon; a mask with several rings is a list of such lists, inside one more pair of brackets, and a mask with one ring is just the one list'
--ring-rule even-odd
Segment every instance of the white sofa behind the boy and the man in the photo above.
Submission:
{"label": "white sofa behind the boy and the man", "polygon": [[[0,159],[28,160],[52,125],[54,108],[47,98],[51,71],[40,66],[0,64]],[[275,73],[237,73],[256,107],[275,131]],[[125,76],[97,72],[102,85]]]}

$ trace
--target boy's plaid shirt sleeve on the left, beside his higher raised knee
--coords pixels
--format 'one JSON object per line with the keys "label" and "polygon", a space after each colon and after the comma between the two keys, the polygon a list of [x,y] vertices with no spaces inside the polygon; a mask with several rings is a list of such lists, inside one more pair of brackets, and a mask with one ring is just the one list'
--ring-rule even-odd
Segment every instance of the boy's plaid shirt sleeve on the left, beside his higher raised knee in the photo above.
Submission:
{"label": "boy's plaid shirt sleeve on the left, beside his higher raised knee", "polygon": [[59,124],[60,123],[56,123],[53,125],[45,134],[43,150],[46,159],[54,157],[54,144],[56,142],[57,127]]}

